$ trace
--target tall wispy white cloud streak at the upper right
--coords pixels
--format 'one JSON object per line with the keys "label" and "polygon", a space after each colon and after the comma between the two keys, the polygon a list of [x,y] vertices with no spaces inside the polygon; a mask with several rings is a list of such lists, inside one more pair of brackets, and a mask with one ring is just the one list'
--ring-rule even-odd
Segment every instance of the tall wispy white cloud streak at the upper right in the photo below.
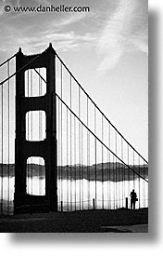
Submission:
{"label": "tall wispy white cloud streak at the upper right", "polygon": [[147,54],[147,0],[120,0],[98,40],[97,52],[103,57],[98,71],[106,73],[124,53],[135,50]]}

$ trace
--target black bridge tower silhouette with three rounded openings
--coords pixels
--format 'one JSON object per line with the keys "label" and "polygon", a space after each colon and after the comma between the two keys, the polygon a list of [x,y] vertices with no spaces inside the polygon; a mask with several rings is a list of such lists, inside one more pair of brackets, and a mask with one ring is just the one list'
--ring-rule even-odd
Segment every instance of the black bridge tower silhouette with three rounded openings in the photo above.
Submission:
{"label": "black bridge tower silhouette with three rounded openings", "polygon": [[[34,60],[34,61],[33,61]],[[46,94],[41,97],[25,97],[25,72],[28,69],[46,69]],[[50,45],[43,54],[25,56],[19,48],[16,56],[16,142],[15,142],[15,195],[14,212],[56,211],[56,76],[55,50]],[[19,72],[18,72],[19,71]],[[25,116],[30,111],[44,111],[46,138],[44,141],[26,141]],[[27,194],[27,159],[44,158],[45,195]],[[32,209],[31,209],[32,206]]]}

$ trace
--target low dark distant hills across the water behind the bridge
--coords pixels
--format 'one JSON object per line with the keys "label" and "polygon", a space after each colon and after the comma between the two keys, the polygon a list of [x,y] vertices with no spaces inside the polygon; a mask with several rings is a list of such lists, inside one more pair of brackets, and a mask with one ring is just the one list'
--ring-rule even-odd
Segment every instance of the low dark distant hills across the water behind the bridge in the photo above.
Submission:
{"label": "low dark distant hills across the water behind the bridge", "polygon": [[[131,166],[133,168],[133,166]],[[44,179],[45,168],[44,166],[37,164],[28,165],[28,176],[40,177]],[[134,171],[139,173],[145,179],[148,178],[148,166],[134,166]],[[0,165],[0,176],[3,177],[14,177],[15,176],[15,165],[14,164],[1,164]],[[97,181],[132,181],[133,171],[130,168],[125,167],[120,163],[100,163],[92,166],[74,165],[74,166],[63,166],[57,169],[58,179],[68,180],[90,180],[94,181],[96,176]],[[134,174],[134,179],[138,178],[138,175]]]}

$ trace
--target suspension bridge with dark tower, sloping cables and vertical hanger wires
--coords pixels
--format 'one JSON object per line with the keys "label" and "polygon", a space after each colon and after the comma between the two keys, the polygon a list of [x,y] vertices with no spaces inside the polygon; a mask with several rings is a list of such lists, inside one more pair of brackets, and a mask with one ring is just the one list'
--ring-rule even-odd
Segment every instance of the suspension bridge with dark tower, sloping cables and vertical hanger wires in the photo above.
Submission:
{"label": "suspension bridge with dark tower, sloping cables and vertical hanger wires", "polygon": [[148,162],[50,44],[0,64],[0,214],[148,207]]}

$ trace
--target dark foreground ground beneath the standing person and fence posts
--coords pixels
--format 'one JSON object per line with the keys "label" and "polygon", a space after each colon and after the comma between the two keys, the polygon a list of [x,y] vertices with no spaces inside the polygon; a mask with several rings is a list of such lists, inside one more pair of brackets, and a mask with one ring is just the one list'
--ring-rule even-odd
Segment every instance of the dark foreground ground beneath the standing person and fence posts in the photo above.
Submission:
{"label": "dark foreground ground beneath the standing person and fence posts", "polygon": [[148,209],[98,209],[0,217],[5,233],[147,233]]}

